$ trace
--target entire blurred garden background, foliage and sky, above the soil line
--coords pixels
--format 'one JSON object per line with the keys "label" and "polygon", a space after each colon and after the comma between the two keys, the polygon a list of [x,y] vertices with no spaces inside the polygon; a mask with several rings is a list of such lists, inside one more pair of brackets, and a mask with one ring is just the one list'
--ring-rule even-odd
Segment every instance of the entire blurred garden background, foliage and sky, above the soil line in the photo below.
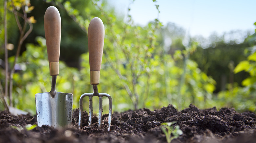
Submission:
{"label": "entire blurred garden background, foliage and sky, above the soil line", "polygon": [[[168,104],[181,110],[190,103],[255,111],[256,1],[6,1],[6,14],[0,5],[1,110],[35,114],[35,94],[51,90],[43,18],[55,6],[62,22],[56,90],[73,93],[73,109],[81,94],[93,92],[87,29],[99,17],[105,41],[98,90],[112,96],[114,111]],[[84,98],[87,111],[88,103]],[[108,99],[103,108],[107,113]]]}

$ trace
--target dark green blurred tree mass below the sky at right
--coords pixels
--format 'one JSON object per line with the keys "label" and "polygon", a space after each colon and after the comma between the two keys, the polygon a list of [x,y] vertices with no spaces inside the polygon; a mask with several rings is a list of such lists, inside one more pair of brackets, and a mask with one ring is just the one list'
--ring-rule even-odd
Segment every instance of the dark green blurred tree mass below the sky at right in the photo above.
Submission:
{"label": "dark green blurred tree mass below the sky at right", "polygon": [[206,47],[203,47],[202,44],[199,45],[197,51],[190,56],[190,59],[197,62],[204,73],[216,81],[214,93],[226,90],[226,84],[229,83],[233,84],[235,82],[241,86],[241,82],[249,76],[245,72],[241,72],[236,76],[232,74],[234,67],[240,61],[246,59],[246,55],[243,53],[245,48],[249,46],[248,41],[245,40],[247,35],[241,38],[242,41],[240,42],[234,39],[225,41],[225,37],[233,34],[234,32],[226,33],[222,37],[218,37],[215,34],[211,35],[210,39],[212,41],[210,45]]}

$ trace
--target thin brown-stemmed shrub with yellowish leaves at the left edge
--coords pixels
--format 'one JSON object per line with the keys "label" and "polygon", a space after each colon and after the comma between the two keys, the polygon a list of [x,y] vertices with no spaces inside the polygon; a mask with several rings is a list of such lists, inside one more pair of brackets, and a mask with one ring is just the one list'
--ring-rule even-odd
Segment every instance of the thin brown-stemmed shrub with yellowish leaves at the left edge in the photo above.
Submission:
{"label": "thin brown-stemmed shrub with yellowish leaves at the left edge", "polygon": [[[33,24],[36,23],[36,20],[34,19],[34,16],[31,16],[31,17],[28,17],[27,14],[30,13],[34,7],[31,6],[30,4],[30,0],[22,0],[22,1],[19,1],[19,0],[11,0],[11,1],[8,1],[7,3],[7,0],[5,0],[5,6],[4,6],[4,9],[5,9],[5,12],[4,12],[4,23],[5,23],[5,27],[4,27],[4,31],[5,31],[5,36],[4,36],[4,39],[5,39],[5,43],[4,43],[4,47],[5,47],[5,90],[3,90],[3,87],[2,87],[2,84],[1,84],[1,81],[0,81],[0,90],[1,90],[1,99],[2,99],[2,102],[4,103],[5,105],[5,108],[7,110],[8,109],[8,106],[13,106],[13,74],[15,72],[15,66],[16,63],[17,63],[17,59],[20,55],[20,51],[21,51],[21,46],[24,42],[24,40],[29,36],[29,34],[32,32],[32,29],[33,29]],[[20,38],[18,40],[18,46],[17,46],[17,50],[16,50],[16,55],[14,57],[14,60],[12,61],[12,65],[10,66],[9,65],[9,62],[8,62],[8,50],[12,50],[13,48],[11,49],[8,49],[8,38],[7,38],[7,19],[6,19],[6,16],[7,16],[7,12],[6,10],[10,10],[13,14],[14,14],[14,17],[15,17],[15,21],[17,23],[17,26],[18,26],[18,29],[19,29],[19,32],[20,32]],[[21,20],[19,19],[19,17],[22,19],[23,23],[20,22]],[[29,29],[27,30],[28,28],[28,25],[29,25]],[[11,67],[11,68],[9,68]],[[10,69],[10,70],[9,70]],[[6,100],[9,100],[9,103],[6,101]]]}

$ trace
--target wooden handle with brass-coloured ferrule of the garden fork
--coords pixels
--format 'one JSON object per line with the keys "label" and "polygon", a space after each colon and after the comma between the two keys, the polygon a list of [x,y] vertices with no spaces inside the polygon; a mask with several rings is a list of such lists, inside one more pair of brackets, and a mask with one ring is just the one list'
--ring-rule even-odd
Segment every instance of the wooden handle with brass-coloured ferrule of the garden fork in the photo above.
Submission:
{"label": "wooden handle with brass-coloured ferrule of the garden fork", "polygon": [[98,17],[93,18],[88,27],[89,63],[92,85],[99,84],[99,71],[103,53],[104,34],[104,24],[101,19]]}

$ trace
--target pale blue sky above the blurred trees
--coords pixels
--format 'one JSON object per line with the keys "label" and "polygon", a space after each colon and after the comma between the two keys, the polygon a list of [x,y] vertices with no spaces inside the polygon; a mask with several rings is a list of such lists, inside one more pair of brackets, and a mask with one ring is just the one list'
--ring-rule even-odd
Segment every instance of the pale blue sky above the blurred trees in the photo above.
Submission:
{"label": "pale blue sky above the blurred trees", "polygon": [[159,20],[177,24],[191,36],[207,38],[213,32],[222,35],[231,30],[254,31],[256,26],[256,0],[108,0],[118,13],[127,14],[128,7],[135,24],[145,25]]}

